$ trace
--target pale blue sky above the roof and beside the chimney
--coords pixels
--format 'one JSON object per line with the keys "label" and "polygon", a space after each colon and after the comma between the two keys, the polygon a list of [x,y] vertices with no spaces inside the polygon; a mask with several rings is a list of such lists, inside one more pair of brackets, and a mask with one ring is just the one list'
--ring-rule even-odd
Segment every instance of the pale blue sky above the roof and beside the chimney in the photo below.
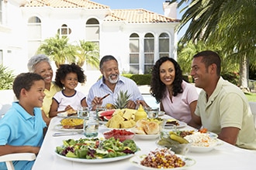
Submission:
{"label": "pale blue sky above the roof and beside the chimney", "polygon": [[[164,0],[91,0],[92,2],[97,2],[102,5],[108,5],[111,9],[129,9],[129,8],[144,8],[151,12],[156,12],[157,14],[164,15],[163,2]],[[183,6],[182,6],[183,8]],[[177,18],[182,19],[182,13],[179,12],[180,9],[177,9]],[[178,39],[184,35],[185,29],[187,26],[184,26],[180,32],[178,32]]]}

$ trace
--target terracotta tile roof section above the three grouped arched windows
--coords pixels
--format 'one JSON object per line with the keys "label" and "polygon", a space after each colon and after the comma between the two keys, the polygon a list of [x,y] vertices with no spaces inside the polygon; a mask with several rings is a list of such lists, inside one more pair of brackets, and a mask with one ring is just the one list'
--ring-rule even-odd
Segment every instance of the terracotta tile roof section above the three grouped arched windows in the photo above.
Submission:
{"label": "terracotta tile roof section above the three grouped arched windows", "polygon": [[146,22],[179,22],[178,19],[171,19],[155,12],[140,9],[114,9],[112,15],[108,15],[106,21],[126,21],[129,23]]}

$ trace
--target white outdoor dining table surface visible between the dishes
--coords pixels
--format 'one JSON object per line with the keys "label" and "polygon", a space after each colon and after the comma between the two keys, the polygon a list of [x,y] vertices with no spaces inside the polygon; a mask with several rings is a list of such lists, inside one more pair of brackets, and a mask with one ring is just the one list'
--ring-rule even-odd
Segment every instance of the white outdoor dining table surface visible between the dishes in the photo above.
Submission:
{"label": "white outdoor dining table surface visible between the dishes", "polygon": [[[163,117],[168,117],[164,115]],[[43,145],[40,148],[40,152],[37,155],[36,161],[33,165],[33,170],[95,170],[95,169],[112,169],[112,170],[137,170],[140,168],[135,167],[131,162],[130,158],[119,160],[116,162],[99,162],[99,163],[85,163],[85,162],[73,162],[60,158],[56,155],[55,149],[57,146],[63,145],[63,141],[74,138],[85,138],[84,134],[66,135],[54,137],[53,134],[61,132],[55,128],[57,124],[60,124],[61,117],[54,117],[50,121],[47,134],[44,138]],[[192,129],[188,125],[181,130]],[[105,126],[99,127],[99,138],[103,137],[102,133],[109,131]],[[63,131],[62,131],[63,132]],[[149,152],[154,151],[157,148],[157,138],[144,140],[133,138],[137,146],[141,151]],[[237,148],[234,145],[230,145],[224,141],[221,141],[221,145],[216,146],[212,151],[209,152],[191,152],[186,157],[195,160],[195,165],[185,169],[195,170],[209,170],[209,169],[225,169],[225,170],[252,170],[256,169],[256,151],[250,151],[242,148]]]}

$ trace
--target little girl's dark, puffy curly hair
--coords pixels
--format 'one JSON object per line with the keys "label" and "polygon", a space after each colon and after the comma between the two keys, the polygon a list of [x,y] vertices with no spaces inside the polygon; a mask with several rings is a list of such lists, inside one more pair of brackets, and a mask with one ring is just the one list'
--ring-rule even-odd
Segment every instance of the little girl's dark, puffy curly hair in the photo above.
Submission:
{"label": "little girl's dark, puffy curly hair", "polygon": [[78,75],[78,82],[85,83],[86,76],[84,70],[75,63],[71,64],[61,64],[60,67],[56,71],[55,83],[58,87],[63,88],[64,85],[61,83],[61,80],[64,80],[67,76],[67,73],[76,73]]}

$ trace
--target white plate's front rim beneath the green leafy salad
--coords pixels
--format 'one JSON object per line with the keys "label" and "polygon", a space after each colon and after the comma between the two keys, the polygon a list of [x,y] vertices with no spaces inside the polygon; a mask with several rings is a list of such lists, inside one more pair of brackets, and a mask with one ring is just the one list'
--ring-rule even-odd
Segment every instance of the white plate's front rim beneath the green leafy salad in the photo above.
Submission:
{"label": "white plate's front rim beneath the green leafy salad", "polygon": [[86,158],[69,158],[69,157],[65,157],[63,155],[59,155],[57,154],[57,152],[55,152],[55,154],[60,157],[60,158],[64,158],[68,161],[72,161],[72,162],[84,162],[84,163],[102,163],[102,162],[116,162],[119,160],[123,160],[126,158],[130,158],[133,156],[133,154],[130,155],[125,155],[125,156],[119,156],[119,157],[115,157],[115,158],[101,158],[101,159],[86,159]]}

